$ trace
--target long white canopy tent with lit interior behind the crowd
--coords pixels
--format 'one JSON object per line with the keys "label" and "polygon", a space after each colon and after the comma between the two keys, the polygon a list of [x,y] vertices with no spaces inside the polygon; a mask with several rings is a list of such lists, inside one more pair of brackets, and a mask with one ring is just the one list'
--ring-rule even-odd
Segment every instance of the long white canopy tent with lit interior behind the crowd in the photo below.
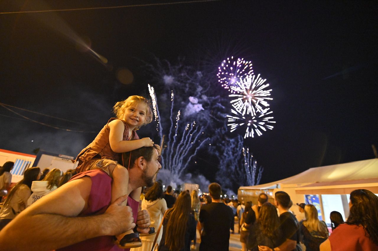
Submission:
{"label": "long white canopy tent with lit interior behind the crowd", "polygon": [[[274,196],[276,191],[281,190],[286,191],[293,203],[296,204],[305,202],[304,194],[318,194],[321,211],[324,215],[322,194],[345,195],[350,194],[355,189],[367,189],[373,193],[378,193],[378,159],[313,167],[279,181],[251,187],[240,187],[238,196],[255,196],[255,194],[261,193],[262,190],[265,192],[270,191],[269,194]],[[345,203],[347,204],[345,198],[342,203],[346,215],[349,208],[345,208]],[[297,207],[293,207],[291,210],[297,213]]]}

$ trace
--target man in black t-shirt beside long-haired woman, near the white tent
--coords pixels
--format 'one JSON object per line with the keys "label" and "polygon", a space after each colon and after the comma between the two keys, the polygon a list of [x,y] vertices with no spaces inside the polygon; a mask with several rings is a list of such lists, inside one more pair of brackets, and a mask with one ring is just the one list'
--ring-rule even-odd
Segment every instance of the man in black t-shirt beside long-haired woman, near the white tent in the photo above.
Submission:
{"label": "man in black t-shirt beside long-haired woman, near the white tent", "polygon": [[280,212],[280,223],[285,242],[274,249],[268,246],[259,246],[259,251],[293,251],[299,243],[299,224],[296,217],[289,212],[290,196],[284,191],[274,194],[274,203]]}

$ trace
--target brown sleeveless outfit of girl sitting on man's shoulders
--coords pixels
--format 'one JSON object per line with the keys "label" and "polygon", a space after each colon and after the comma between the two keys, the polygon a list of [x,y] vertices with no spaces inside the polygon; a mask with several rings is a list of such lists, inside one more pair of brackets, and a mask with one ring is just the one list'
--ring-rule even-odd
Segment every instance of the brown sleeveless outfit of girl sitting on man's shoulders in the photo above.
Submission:
{"label": "brown sleeveless outfit of girl sitting on man's shoulders", "polygon": [[[95,140],[77,155],[76,159],[73,161],[74,163],[79,161],[79,164],[76,167],[77,173],[101,168],[109,174],[109,176],[112,176],[111,173],[114,167],[121,160],[121,153],[113,152],[109,143],[109,123],[115,119],[118,118],[109,119],[107,124],[98,133]],[[135,131],[132,132],[132,135],[129,138],[129,126],[127,126],[126,122],[122,119],[119,120],[121,120],[125,126],[123,140],[139,139],[139,136]]]}

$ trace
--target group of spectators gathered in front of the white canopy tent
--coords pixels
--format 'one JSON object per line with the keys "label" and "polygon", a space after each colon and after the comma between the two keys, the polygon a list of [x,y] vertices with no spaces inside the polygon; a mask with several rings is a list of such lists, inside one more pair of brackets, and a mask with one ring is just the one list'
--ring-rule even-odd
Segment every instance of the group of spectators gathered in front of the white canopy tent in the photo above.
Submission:
{"label": "group of spectators gathered in front of the white canopy tent", "polygon": [[259,195],[257,205],[246,202],[240,218],[242,250],[378,250],[378,197],[371,191],[352,191],[345,222],[339,212],[331,212],[332,234],[314,205],[297,204],[297,216],[290,211],[292,205],[284,191],[274,194],[274,205],[265,193]]}

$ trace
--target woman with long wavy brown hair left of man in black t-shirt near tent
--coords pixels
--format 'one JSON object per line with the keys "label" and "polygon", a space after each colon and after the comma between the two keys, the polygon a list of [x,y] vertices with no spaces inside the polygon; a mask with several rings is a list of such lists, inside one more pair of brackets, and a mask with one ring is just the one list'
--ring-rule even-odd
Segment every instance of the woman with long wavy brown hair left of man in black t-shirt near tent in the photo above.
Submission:
{"label": "woman with long wavy brown hair left of man in black t-shirt near tent", "polygon": [[247,242],[248,250],[257,251],[258,246],[268,246],[273,249],[285,240],[276,207],[269,202],[264,203],[260,207],[259,218],[251,227]]}

